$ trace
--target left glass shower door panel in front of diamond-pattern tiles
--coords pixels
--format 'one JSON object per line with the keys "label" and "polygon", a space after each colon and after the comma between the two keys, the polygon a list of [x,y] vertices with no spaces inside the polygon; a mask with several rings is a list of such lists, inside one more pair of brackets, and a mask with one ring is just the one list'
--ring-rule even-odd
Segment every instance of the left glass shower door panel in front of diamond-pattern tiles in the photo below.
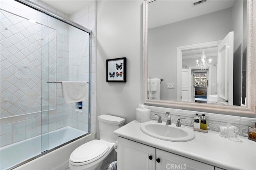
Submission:
{"label": "left glass shower door panel in front of diamond-pattern tiles", "polygon": [[6,3],[0,10],[2,169],[41,153],[42,30],[37,10],[11,0],[1,3]]}

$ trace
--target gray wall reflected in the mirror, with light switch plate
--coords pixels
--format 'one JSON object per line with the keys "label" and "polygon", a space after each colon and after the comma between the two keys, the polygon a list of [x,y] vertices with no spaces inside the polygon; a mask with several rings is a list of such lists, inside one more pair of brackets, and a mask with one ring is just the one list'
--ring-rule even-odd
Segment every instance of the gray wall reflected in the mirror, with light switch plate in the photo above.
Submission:
{"label": "gray wall reflected in the mirror, with light switch plate", "polygon": [[231,8],[150,29],[148,75],[164,79],[161,99],[176,100],[176,88],[166,88],[167,83],[176,87],[176,47],[222,40],[231,30]]}

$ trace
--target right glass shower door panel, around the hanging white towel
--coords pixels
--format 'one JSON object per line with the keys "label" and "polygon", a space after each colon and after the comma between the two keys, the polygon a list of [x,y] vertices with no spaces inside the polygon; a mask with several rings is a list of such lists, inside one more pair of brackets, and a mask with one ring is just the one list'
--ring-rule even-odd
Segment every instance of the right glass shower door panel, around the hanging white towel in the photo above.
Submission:
{"label": "right glass shower door panel, around the hanging white towel", "polygon": [[[66,104],[62,81],[87,81],[88,100]],[[90,36],[42,14],[42,152],[89,132]]]}

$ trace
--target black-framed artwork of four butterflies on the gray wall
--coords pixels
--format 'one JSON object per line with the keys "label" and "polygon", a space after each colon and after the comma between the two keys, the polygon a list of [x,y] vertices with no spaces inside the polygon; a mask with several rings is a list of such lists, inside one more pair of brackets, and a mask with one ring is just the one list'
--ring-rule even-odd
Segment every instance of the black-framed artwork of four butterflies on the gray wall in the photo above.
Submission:
{"label": "black-framed artwork of four butterflies on the gray wall", "polygon": [[126,57],[106,60],[107,82],[126,82]]}

